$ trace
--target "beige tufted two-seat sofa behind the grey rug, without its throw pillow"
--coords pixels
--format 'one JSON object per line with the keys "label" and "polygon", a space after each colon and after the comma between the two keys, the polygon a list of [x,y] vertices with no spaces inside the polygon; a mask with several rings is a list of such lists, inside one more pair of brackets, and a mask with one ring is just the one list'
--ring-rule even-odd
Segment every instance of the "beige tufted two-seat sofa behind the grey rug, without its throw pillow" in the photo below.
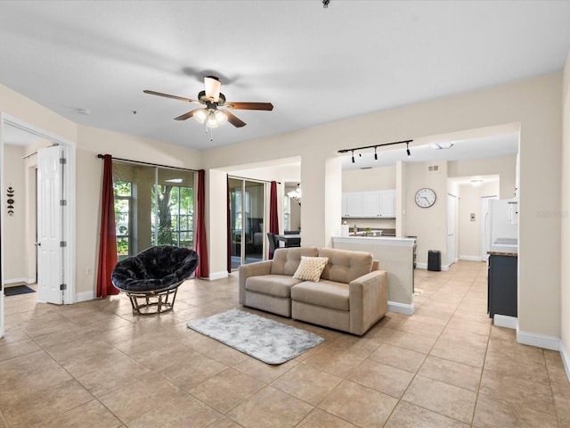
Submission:
{"label": "beige tufted two-seat sofa behind the grey rug, without its throw pillow", "polygon": [[[318,282],[293,277],[301,256],[329,259]],[[368,252],[281,248],[240,267],[240,304],[362,335],[387,312],[387,273]]]}

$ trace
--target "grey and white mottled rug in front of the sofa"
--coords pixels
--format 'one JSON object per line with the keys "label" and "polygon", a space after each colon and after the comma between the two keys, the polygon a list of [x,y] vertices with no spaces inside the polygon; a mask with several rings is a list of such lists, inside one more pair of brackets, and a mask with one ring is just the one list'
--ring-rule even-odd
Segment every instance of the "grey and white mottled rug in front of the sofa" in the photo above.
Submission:
{"label": "grey and white mottled rug in front of the sofa", "polygon": [[231,309],[186,325],[267,364],[284,363],[324,342],[314,333],[240,309]]}

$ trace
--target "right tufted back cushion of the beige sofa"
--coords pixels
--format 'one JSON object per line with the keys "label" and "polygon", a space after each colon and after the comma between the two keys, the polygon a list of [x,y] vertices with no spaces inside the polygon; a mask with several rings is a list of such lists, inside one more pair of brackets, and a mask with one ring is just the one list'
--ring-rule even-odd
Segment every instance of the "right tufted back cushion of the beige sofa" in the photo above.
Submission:
{"label": "right tufted back cushion of the beige sofa", "polygon": [[348,284],[372,270],[373,259],[370,252],[322,248],[319,250],[319,257],[329,258],[329,263],[322,271],[322,279],[338,283]]}

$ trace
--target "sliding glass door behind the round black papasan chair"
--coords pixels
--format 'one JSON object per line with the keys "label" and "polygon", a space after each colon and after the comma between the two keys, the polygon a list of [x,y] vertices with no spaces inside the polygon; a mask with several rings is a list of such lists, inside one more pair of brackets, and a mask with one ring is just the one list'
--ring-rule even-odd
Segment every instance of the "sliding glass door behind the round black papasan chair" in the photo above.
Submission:
{"label": "sliding glass door behind the round black papasan chair", "polygon": [[113,161],[118,259],[154,245],[194,247],[195,174]]}

